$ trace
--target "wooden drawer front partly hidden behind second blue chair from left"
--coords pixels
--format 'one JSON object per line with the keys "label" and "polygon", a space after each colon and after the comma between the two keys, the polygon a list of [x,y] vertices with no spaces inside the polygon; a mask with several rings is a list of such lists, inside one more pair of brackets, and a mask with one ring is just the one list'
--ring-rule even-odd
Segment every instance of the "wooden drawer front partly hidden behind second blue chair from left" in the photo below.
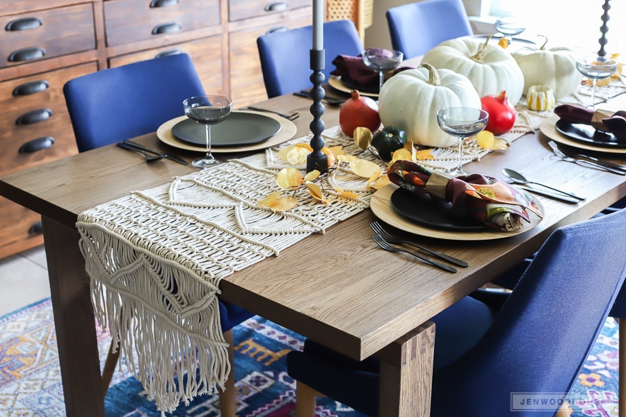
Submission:
{"label": "wooden drawer front partly hidden behind second blue chair from left", "polygon": [[[281,22],[277,28],[299,28],[311,19]],[[230,95],[236,106],[248,106],[267,99],[257,38],[274,28],[253,29],[230,34]]]}

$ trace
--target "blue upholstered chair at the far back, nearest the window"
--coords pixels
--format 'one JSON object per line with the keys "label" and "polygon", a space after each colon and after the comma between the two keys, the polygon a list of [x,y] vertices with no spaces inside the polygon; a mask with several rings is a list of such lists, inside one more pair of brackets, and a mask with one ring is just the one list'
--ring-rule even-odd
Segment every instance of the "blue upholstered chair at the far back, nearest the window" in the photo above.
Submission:
{"label": "blue upholstered chair at the far back, nearest the window", "polygon": [[462,0],[423,0],[387,10],[392,47],[404,58],[426,54],[444,40],[472,35]]}

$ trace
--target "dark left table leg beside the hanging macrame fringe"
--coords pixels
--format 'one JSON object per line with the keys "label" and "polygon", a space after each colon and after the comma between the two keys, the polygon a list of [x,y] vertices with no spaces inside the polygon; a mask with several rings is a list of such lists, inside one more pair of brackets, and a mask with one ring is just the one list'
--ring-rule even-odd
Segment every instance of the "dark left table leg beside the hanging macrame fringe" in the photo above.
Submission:
{"label": "dark left table leg beside the hanging macrame fringe", "polygon": [[104,417],[95,318],[79,233],[42,218],[68,417]]}

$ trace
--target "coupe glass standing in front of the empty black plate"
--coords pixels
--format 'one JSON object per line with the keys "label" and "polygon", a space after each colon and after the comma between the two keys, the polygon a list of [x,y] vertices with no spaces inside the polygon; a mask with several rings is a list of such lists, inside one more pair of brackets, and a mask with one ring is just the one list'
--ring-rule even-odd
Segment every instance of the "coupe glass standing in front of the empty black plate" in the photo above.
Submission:
{"label": "coupe glass standing in front of the empty black plate", "polygon": [[191,120],[204,124],[207,135],[207,154],[195,159],[191,165],[206,168],[219,161],[211,154],[211,124],[224,120],[232,112],[232,100],[218,95],[195,96],[183,101],[185,115]]}

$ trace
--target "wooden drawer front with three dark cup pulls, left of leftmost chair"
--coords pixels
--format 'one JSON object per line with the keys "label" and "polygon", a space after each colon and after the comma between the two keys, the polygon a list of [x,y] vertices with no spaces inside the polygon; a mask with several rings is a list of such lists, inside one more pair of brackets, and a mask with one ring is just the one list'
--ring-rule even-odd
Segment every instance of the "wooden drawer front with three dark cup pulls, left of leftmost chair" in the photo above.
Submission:
{"label": "wooden drawer front with three dark cup pulls, left of leftmost chair", "polygon": [[63,84],[96,70],[87,63],[0,83],[0,174],[78,152]]}

